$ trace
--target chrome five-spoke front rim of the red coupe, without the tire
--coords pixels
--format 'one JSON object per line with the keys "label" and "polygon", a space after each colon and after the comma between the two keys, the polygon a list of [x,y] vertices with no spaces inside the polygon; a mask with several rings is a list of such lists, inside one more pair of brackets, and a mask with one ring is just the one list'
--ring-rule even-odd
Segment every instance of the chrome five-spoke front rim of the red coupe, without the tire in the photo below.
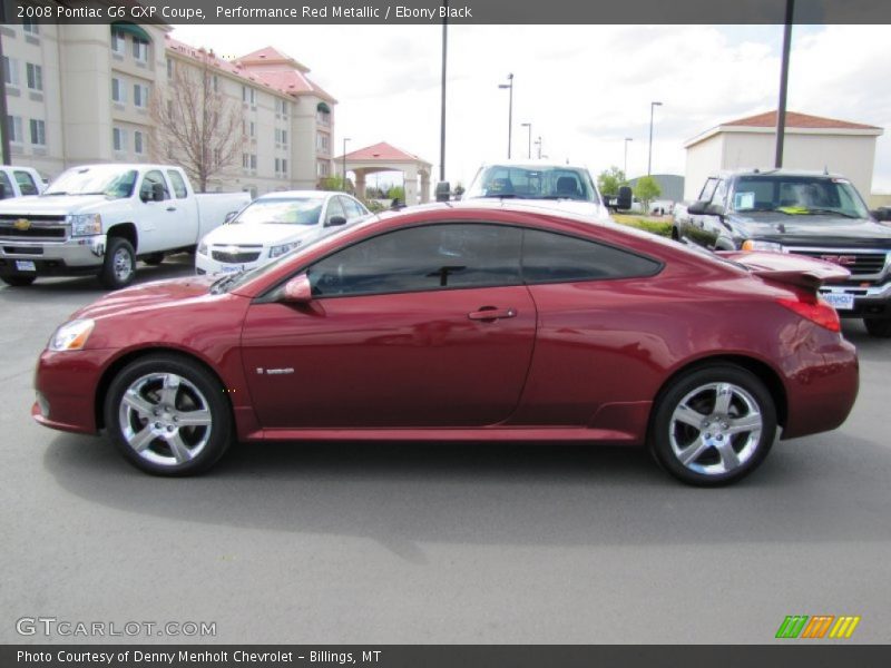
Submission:
{"label": "chrome five-spoke front rim of the red coupe, without the tire", "polygon": [[174,466],[192,461],[210,439],[207,399],[175,373],[149,373],[124,392],[118,409],[120,432],[140,458]]}

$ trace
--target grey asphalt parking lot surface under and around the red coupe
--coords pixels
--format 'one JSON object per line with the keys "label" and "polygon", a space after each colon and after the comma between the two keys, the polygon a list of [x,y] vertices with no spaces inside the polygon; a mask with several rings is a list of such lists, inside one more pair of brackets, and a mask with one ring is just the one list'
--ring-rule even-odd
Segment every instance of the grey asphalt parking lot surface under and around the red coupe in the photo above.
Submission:
{"label": "grey asphalt parking lot surface under and around the red coupe", "polygon": [[2,642],[90,640],[17,633],[45,616],[216,622],[137,638],[165,642],[762,644],[787,615],[861,616],[849,642],[891,641],[891,341],[859,322],[846,424],[728,489],[640,451],[528,445],[242,445],[168,480],[31,421],[37,356],[101,294],[0,288]]}

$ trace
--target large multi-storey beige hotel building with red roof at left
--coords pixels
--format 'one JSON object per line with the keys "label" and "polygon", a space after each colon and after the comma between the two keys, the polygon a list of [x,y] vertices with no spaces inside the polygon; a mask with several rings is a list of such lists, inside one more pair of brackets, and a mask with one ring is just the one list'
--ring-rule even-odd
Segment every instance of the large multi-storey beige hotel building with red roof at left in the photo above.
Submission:
{"label": "large multi-storey beige hotel building with red roof at left", "polygon": [[149,161],[153,96],[176,68],[209,68],[237,106],[242,147],[209,189],[262,194],[313,188],[333,173],[336,100],[309,68],[273,48],[234,60],[173,39],[167,26],[3,24],[3,75],[13,164],[53,177],[97,161]]}

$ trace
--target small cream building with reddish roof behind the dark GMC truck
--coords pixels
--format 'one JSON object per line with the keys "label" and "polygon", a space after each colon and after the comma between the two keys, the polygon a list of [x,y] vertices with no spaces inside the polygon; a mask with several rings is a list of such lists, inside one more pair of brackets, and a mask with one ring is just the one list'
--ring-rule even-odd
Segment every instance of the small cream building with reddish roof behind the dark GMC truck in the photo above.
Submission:
{"label": "small cream building with reddish roof behind the dark GMC truck", "polygon": [[[875,126],[787,111],[783,167],[842,174],[869,197],[881,134]],[[770,168],[775,146],[776,111],[724,122],[689,139],[684,199],[696,199],[705,179],[721,169]]]}

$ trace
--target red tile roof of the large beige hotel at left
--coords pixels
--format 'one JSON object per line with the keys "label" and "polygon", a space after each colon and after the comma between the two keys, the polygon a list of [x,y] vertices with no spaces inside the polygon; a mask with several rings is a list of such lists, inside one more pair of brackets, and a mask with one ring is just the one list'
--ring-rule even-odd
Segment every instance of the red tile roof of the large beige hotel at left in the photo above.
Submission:
{"label": "red tile roof of the large beige hotel at left", "polygon": [[[236,60],[224,60],[223,58],[215,56],[213,51],[196,49],[193,46],[172,38],[169,35],[165,36],[165,41],[167,43],[167,48],[172,51],[176,51],[177,53],[193,60],[206,59],[210,67],[215,67],[239,79],[251,81],[256,86],[266,87],[275,92],[288,96],[296,97],[300,95],[310,94],[332,104],[337,102],[337,100],[334,99],[331,94],[326,92],[321,86],[316,85],[306,76],[305,72],[310,71],[306,67],[302,66],[293,58],[284,56],[281,53],[281,51],[277,51],[272,47],[266,47],[260,51],[254,51],[253,53],[248,53],[247,56]],[[262,53],[266,53],[270,58],[273,58],[272,55],[275,53],[276,58],[285,59],[277,60],[277,62],[291,65],[293,69],[264,70],[262,68],[256,69],[252,67],[253,62],[275,62],[273,60],[264,60],[261,56],[257,56]]]}

